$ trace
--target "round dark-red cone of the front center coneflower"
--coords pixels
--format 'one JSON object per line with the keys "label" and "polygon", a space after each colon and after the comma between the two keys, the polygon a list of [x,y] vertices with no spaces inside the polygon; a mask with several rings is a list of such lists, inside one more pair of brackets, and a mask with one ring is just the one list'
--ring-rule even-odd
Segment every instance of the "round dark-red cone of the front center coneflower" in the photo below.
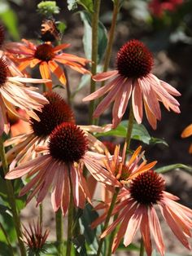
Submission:
{"label": "round dark-red cone of the front center coneflower", "polygon": [[50,135],[50,155],[66,163],[80,161],[88,149],[88,141],[80,127],[72,123],[57,126]]}

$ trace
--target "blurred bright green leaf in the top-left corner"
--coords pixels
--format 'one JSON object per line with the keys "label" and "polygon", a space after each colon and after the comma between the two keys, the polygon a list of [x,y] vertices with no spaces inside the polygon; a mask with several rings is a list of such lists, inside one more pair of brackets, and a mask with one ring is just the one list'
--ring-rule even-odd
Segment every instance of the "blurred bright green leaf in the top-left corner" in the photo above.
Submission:
{"label": "blurred bright green leaf in the top-left corner", "polygon": [[20,40],[20,34],[18,32],[18,19],[15,11],[11,10],[7,2],[0,2],[0,19],[8,29],[12,38],[15,41]]}

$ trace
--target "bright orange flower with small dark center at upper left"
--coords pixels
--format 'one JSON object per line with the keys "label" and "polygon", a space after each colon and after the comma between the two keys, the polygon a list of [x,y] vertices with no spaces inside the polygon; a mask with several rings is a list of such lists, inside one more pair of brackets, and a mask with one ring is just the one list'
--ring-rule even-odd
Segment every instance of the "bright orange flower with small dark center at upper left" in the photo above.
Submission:
{"label": "bright orange flower with small dark center at upper left", "polygon": [[[89,71],[84,68],[89,60],[61,52],[63,49],[70,46],[68,43],[53,46],[47,42],[36,46],[33,42],[29,42],[25,39],[22,39],[22,42],[23,43],[10,42],[6,45],[7,51],[16,55],[15,60],[20,62],[20,71],[23,71],[28,66],[34,68],[38,65],[42,78],[50,79],[50,73],[54,73],[63,85],[66,84],[66,77],[63,68],[61,68],[59,64],[67,65],[79,73],[89,73]],[[49,89],[52,88],[52,82],[46,85]]]}

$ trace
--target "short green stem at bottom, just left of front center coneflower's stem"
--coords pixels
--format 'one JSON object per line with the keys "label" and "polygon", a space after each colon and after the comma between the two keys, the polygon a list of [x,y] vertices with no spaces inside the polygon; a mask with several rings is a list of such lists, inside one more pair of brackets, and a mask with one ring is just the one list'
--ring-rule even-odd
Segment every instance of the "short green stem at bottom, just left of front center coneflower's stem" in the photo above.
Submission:
{"label": "short green stem at bottom, just left of front center coneflower's stem", "polygon": [[55,223],[56,223],[57,249],[58,249],[59,255],[63,255],[63,216],[60,209],[55,213]]}

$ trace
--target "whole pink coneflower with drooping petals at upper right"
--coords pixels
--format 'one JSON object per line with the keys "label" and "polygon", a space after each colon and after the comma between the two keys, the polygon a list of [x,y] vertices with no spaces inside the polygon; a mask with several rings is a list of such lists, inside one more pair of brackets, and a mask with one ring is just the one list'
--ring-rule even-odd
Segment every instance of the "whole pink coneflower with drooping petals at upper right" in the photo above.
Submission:
{"label": "whole pink coneflower with drooping petals at upper right", "polygon": [[113,80],[91,95],[84,101],[98,99],[108,95],[98,104],[94,117],[99,117],[115,101],[112,109],[112,124],[116,127],[129,103],[132,95],[133,113],[137,123],[142,122],[143,106],[146,118],[153,129],[156,129],[157,120],[161,119],[159,102],[168,110],[180,113],[179,103],[172,95],[180,93],[168,83],[159,80],[151,73],[153,58],[146,46],[138,40],[126,42],[117,55],[116,70],[99,73],[93,77],[95,81],[104,81],[113,77]]}

